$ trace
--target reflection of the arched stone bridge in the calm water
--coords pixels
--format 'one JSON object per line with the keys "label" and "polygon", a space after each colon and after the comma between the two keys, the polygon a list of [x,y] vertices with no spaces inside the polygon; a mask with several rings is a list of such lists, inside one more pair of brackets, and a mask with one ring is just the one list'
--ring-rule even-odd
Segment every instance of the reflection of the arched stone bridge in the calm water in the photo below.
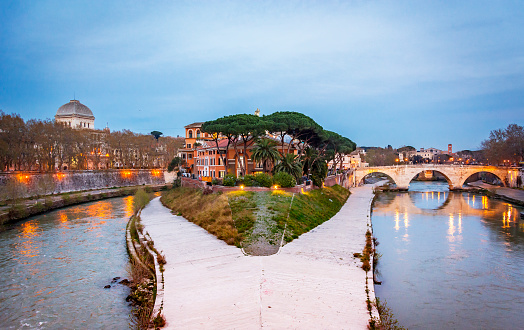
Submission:
{"label": "reflection of the arched stone bridge in the calm water", "polygon": [[[375,200],[377,206],[373,208],[374,214],[394,214],[395,222],[404,221],[409,224],[409,215],[441,215],[455,216],[458,221],[462,217],[477,216],[482,218],[500,217],[503,227],[509,226],[511,222],[518,222],[520,214],[518,210],[507,203],[490,201],[487,196],[473,195],[469,193],[453,192],[410,192],[398,193],[391,200]],[[434,208],[422,208],[417,205],[433,205]]]}

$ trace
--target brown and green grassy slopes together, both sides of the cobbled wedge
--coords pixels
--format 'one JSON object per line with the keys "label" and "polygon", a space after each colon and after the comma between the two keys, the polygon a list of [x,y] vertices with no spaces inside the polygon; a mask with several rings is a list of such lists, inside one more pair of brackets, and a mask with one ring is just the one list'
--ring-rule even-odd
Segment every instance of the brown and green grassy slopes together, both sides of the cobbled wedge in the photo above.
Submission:
{"label": "brown and green grassy slopes together, both sides of the cobbled wedge", "polygon": [[[268,198],[256,198],[267,194]],[[209,194],[199,189],[178,187],[162,193],[161,202],[174,214],[199,225],[227,244],[241,246],[249,237],[257,211],[269,209],[271,221],[290,242],[329,220],[346,202],[349,191],[340,186],[316,189],[304,194],[234,191]],[[264,205],[259,205],[262,201]],[[267,205],[266,205],[267,203]]]}

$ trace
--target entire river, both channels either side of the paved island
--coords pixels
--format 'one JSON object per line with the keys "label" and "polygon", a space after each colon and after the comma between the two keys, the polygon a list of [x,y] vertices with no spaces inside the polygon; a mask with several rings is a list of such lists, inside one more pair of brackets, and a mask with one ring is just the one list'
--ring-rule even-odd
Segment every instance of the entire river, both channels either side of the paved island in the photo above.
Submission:
{"label": "entire river, both channels either side of the paved island", "polygon": [[[524,325],[524,221],[505,202],[413,183],[380,194],[373,229],[382,285],[410,329]],[[130,328],[125,226],[133,197],[73,206],[0,233],[0,328]]]}

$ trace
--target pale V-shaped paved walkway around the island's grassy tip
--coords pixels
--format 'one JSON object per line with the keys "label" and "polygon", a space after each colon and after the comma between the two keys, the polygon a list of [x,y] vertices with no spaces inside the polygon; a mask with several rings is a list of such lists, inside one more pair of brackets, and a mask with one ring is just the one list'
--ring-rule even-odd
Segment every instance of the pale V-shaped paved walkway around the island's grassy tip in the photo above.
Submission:
{"label": "pale V-shaped paved walkway around the island's grassy tip", "polygon": [[[361,252],[373,197],[352,189],[331,220],[271,256],[245,256],[154,199],[141,214],[163,251],[167,328],[366,329]],[[374,299],[370,281],[370,295]]]}

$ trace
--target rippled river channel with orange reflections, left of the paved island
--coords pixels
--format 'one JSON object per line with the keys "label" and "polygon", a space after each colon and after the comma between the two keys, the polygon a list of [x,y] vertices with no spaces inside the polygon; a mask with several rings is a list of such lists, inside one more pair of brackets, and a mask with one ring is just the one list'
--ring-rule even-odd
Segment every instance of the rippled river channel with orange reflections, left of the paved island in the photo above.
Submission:
{"label": "rippled river channel with orange reflections, left of the paved island", "polygon": [[72,206],[0,233],[0,328],[129,329],[133,197]]}

